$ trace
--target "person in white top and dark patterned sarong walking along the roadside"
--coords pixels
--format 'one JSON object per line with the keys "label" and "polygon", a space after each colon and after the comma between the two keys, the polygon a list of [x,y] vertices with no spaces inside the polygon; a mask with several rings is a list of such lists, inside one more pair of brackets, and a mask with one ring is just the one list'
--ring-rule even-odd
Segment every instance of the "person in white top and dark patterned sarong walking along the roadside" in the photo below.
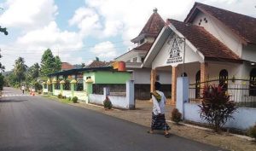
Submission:
{"label": "person in white top and dark patterned sarong walking along the roadside", "polygon": [[151,130],[148,133],[154,133],[154,130],[165,131],[165,136],[169,137],[170,127],[166,123],[165,117],[165,106],[166,106],[166,96],[160,91],[161,84],[159,82],[154,83],[155,90],[151,92],[153,101],[153,113],[152,113],[152,123]]}

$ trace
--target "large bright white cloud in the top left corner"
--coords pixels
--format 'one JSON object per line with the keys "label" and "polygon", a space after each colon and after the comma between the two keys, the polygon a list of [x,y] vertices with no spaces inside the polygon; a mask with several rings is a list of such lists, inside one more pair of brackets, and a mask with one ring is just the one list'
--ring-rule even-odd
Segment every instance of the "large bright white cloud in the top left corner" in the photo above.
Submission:
{"label": "large bright white cloud in the top left corner", "polygon": [[57,6],[54,0],[8,0],[3,3],[0,24],[31,30],[55,20]]}

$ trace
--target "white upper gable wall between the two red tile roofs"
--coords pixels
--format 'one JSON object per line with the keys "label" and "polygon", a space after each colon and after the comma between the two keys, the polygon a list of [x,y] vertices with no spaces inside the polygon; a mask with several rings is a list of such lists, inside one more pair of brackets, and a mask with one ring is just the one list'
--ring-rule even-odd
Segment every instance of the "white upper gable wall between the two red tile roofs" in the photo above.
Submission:
{"label": "white upper gable wall between the two red tile roofs", "polygon": [[[207,22],[204,20],[205,18]],[[199,25],[200,22],[201,25]],[[222,25],[220,21],[200,12],[195,17],[193,24],[195,26],[203,26],[207,32],[210,32],[215,38],[218,38],[219,41],[234,51],[236,55],[241,57],[241,40],[236,38],[235,34],[226,26]]]}

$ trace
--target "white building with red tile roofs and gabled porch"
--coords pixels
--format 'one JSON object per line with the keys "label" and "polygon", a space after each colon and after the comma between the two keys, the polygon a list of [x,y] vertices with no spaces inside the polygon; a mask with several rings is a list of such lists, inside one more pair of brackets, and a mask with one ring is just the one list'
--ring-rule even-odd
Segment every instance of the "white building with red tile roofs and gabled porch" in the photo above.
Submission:
{"label": "white building with red tile roofs and gabled porch", "polygon": [[[231,78],[256,79],[255,25],[253,17],[203,3],[195,3],[184,22],[166,20],[141,66],[151,68],[151,90],[162,71],[172,73],[173,104],[178,76],[189,77],[189,83],[195,86],[195,98],[201,96],[204,83],[212,78],[218,78],[215,83],[226,85],[227,90]],[[241,84],[241,80],[232,81]],[[251,89],[252,81],[245,81],[242,84]],[[247,90],[248,96],[256,96],[256,86],[253,88],[255,93]],[[241,95],[237,98],[246,99]]]}

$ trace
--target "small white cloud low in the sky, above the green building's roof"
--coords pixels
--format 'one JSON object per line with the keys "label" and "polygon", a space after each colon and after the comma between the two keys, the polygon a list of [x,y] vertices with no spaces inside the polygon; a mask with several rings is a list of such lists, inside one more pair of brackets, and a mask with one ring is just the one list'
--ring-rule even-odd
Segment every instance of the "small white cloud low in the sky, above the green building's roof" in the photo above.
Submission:
{"label": "small white cloud low in the sky, above the green building's roof", "polygon": [[114,45],[109,41],[96,44],[90,51],[100,58],[110,59],[118,55]]}

